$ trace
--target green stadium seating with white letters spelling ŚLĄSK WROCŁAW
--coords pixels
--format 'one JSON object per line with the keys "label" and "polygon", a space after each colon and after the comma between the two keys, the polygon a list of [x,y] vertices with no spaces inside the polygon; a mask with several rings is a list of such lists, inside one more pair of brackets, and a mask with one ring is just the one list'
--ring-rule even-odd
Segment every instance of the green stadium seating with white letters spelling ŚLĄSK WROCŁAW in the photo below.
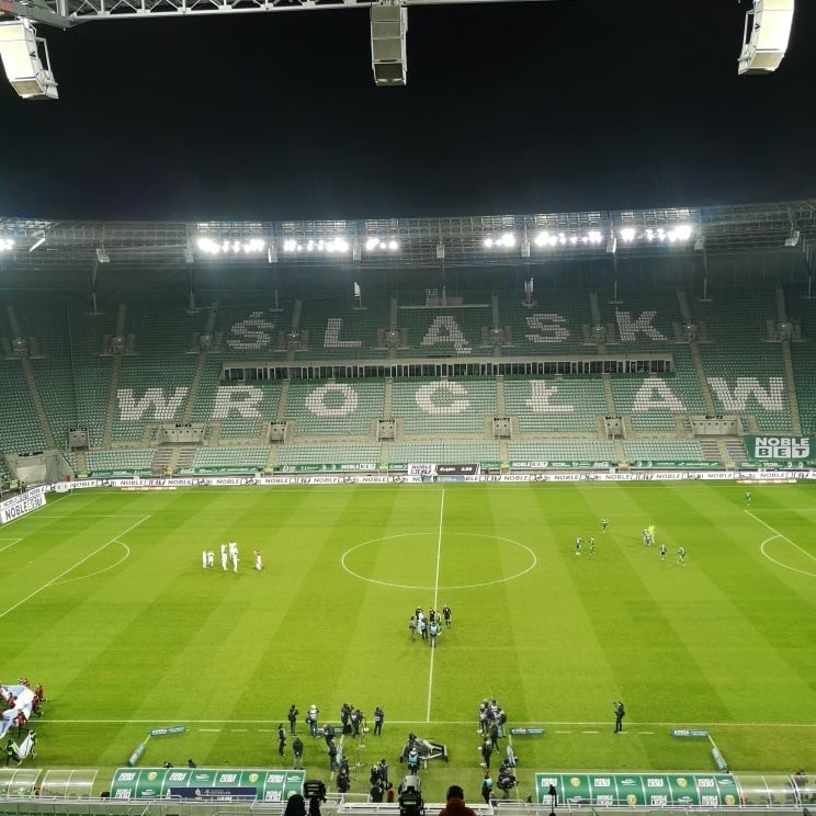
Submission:
{"label": "green stadium seating with white letters spelling \u015aL\u0104SK WROC\u0141AW", "polygon": [[[445,306],[431,304],[417,285],[393,293],[370,285],[359,308],[347,283],[308,281],[287,291],[280,303],[276,294],[256,297],[237,290],[224,297],[205,291],[199,310],[184,308],[178,292],[167,298],[131,295],[122,303],[111,296],[92,315],[81,298],[21,296],[9,311],[0,309],[0,337],[10,338],[16,320],[16,330],[32,340],[27,363],[0,360],[0,452],[44,450],[49,433],[64,450],[68,429],[80,426],[90,433],[89,471],[150,473],[160,441],[157,427],[193,422],[205,426],[205,446],[189,454],[191,471],[367,468],[428,461],[492,465],[508,460],[587,466],[615,462],[621,450],[631,461],[693,463],[712,457],[688,439],[693,432],[690,415],[736,413],[747,432],[790,433],[793,396],[801,432],[816,428],[816,307],[794,287],[786,297],[789,316],[802,330],[790,349],[795,392],[786,381],[787,352],[769,329],[782,310],[774,288],[733,287],[696,301],[672,286],[622,286],[621,302],[613,303],[613,293],[603,288],[593,294],[539,285],[536,303],[528,307],[517,279],[498,292],[457,288]],[[407,348],[382,345],[379,332],[394,322],[394,314]],[[689,318],[704,327],[704,342],[695,348],[678,331]],[[420,358],[441,365],[467,358],[594,355],[591,327],[599,321],[613,327],[609,353],[673,356],[676,371],[385,381],[310,379],[314,372],[304,370],[303,379],[290,382],[220,381],[226,362],[251,369],[269,362],[326,360],[337,365]],[[486,336],[484,330],[494,324],[501,332]],[[306,342],[287,343],[293,327]],[[125,340],[112,356],[110,339],[117,333]],[[5,349],[11,356],[8,344]],[[602,422],[612,410],[626,418],[617,455]],[[498,416],[512,419],[510,437],[502,442],[492,439],[491,420]],[[376,420],[392,418],[396,439],[381,446]],[[277,419],[290,428],[285,443],[270,449],[267,430]],[[68,458],[78,462],[72,454]]]}

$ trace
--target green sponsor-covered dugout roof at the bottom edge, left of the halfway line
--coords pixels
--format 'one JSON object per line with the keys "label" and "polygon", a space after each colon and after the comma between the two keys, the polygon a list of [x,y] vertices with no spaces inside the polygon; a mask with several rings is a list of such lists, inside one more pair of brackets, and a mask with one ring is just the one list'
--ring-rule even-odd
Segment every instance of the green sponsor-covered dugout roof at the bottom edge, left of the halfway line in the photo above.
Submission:
{"label": "green sponsor-covered dugout roof at the bottom edge, left of the halfway line", "polygon": [[254,791],[259,802],[285,802],[301,793],[305,771],[263,768],[117,768],[111,782],[111,798],[186,797],[229,800]]}

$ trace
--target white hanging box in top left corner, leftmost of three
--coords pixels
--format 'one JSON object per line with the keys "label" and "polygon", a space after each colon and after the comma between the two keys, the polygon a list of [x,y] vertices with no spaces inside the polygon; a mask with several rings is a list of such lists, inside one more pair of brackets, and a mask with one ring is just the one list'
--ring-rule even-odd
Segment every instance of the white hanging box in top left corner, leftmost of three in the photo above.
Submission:
{"label": "white hanging box in top left corner, leftmost of three", "polygon": [[57,99],[48,45],[38,37],[31,20],[0,23],[0,59],[12,88],[23,99]]}

